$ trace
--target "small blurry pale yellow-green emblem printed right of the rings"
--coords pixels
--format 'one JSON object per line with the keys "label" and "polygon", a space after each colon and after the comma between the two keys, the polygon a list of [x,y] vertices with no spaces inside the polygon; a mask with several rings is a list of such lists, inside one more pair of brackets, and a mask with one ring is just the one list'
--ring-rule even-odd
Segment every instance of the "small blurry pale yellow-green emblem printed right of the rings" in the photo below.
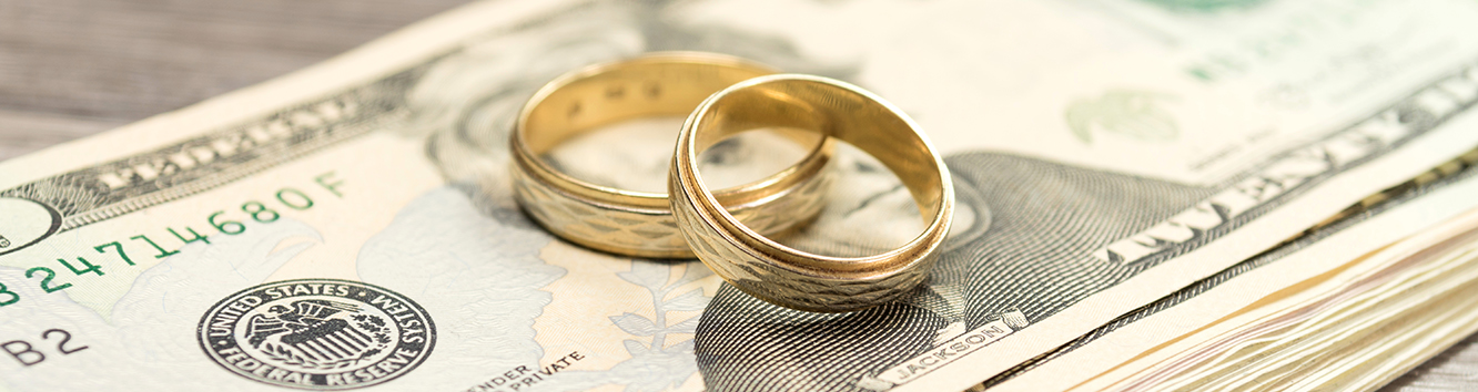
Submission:
{"label": "small blurry pale yellow-green emblem printed right of the rings", "polygon": [[1098,99],[1079,99],[1067,106],[1067,125],[1083,143],[1092,143],[1094,128],[1145,141],[1168,141],[1179,137],[1179,125],[1157,103],[1166,94],[1111,90]]}

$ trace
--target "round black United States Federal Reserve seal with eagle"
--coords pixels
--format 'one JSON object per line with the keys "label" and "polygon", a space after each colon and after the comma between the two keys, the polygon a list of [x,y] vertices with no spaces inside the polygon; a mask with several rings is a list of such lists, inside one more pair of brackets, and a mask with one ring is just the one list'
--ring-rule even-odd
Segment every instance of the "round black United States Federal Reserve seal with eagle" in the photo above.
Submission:
{"label": "round black United States Federal Reserve seal with eagle", "polygon": [[200,318],[197,335],[205,355],[242,377],[324,391],[393,380],[436,343],[432,318],[411,299],[336,279],[238,292]]}

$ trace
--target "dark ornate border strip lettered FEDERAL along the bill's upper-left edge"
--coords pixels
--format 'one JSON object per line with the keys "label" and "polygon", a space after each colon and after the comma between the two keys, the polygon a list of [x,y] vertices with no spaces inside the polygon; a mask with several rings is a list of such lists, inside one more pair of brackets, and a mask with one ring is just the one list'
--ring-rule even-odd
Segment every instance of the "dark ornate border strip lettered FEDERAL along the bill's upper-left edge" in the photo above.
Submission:
{"label": "dark ornate border strip lettered FEDERAL along the bill's upper-left edge", "polygon": [[[594,1],[581,1],[522,22],[488,28],[423,62],[387,71],[380,80],[302,100],[253,121],[0,190],[0,197],[34,202],[52,214],[50,228],[44,234],[19,246],[0,249],[0,256],[72,228],[226,186],[365,136],[377,124],[406,118],[409,112],[403,103],[417,81],[437,62],[463,52],[469,41],[525,31],[593,4]],[[236,149],[242,146],[247,149]]]}

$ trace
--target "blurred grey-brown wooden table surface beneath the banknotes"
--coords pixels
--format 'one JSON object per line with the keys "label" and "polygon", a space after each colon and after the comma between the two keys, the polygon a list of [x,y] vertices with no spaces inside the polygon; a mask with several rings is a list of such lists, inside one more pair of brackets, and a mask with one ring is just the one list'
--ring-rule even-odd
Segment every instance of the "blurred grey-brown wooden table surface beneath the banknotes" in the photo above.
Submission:
{"label": "blurred grey-brown wooden table surface beneath the banknotes", "polygon": [[[0,0],[0,161],[270,80],[463,3]],[[1478,336],[1385,391],[1478,386],[1474,370]]]}

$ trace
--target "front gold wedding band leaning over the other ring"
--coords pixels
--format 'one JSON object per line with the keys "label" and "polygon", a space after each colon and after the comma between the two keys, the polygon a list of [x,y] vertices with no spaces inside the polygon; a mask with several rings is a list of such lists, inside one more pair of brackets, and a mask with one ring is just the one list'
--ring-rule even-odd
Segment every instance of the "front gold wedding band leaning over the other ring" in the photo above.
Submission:
{"label": "front gold wedding band leaning over the other ring", "polygon": [[[811,130],[871,153],[909,189],[928,227],[885,253],[838,258],[792,249],[736,221],[704,186],[696,156],[758,127]],[[704,100],[677,137],[668,193],[678,228],[708,268],[745,293],[817,312],[859,311],[915,289],[955,209],[949,169],[912,119],[856,85],[810,75],[758,77]]]}

